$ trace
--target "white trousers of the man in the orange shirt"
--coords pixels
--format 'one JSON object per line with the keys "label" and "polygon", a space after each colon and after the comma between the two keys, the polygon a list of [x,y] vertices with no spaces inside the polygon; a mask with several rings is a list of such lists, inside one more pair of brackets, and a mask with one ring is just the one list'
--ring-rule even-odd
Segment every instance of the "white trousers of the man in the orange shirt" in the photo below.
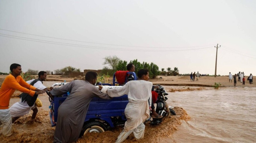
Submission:
{"label": "white trousers of the man in the orange shirt", "polygon": [[12,135],[12,118],[10,109],[0,109],[0,126],[3,127],[3,130],[0,131],[0,133],[2,132],[5,137]]}

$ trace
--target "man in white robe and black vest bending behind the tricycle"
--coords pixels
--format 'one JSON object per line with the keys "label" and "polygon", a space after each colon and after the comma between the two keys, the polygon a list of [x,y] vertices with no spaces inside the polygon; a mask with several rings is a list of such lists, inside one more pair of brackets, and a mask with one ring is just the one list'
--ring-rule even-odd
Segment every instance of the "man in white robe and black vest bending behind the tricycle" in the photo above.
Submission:
{"label": "man in white robe and black vest bending behind the tricycle", "polygon": [[[30,81],[27,81],[26,83],[28,83],[40,90],[48,90],[49,91],[49,88],[47,88],[46,86],[43,85],[43,81],[45,81],[46,76],[47,76],[47,73],[45,71],[40,71],[38,73],[38,79],[32,79]],[[35,105],[35,101],[36,101],[37,97],[38,96],[34,96],[34,97],[30,98],[27,94],[22,93],[20,95],[20,101],[14,103],[10,107],[12,122],[15,122],[21,116],[28,114],[28,112],[30,110],[33,110],[31,119],[32,119],[32,121],[35,120],[36,114],[38,112],[38,109]],[[30,102],[33,102],[32,106],[28,105],[28,103],[30,103]]]}

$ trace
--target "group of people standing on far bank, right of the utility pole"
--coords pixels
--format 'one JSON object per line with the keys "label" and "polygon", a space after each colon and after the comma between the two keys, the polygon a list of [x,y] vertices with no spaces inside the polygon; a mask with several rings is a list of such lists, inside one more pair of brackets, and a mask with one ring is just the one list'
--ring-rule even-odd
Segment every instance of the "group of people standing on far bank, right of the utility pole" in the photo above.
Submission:
{"label": "group of people standing on far bank, right of the utility pole", "polygon": [[[234,76],[229,72],[228,77],[229,77],[229,82],[230,82],[230,80],[232,82],[232,79],[234,78],[234,86],[236,86],[236,77],[238,77],[239,82],[241,82],[241,83],[243,83],[243,85],[245,85],[245,75],[243,72],[239,71]],[[250,73],[249,77],[247,77],[247,81],[249,81],[249,84],[253,83],[253,75],[251,73]]]}

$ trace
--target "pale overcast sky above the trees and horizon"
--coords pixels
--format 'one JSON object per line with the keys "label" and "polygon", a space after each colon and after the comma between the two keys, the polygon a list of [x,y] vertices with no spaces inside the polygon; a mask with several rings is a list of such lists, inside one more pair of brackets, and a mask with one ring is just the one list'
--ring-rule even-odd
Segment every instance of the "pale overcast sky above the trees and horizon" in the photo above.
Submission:
{"label": "pale overcast sky above the trees and horizon", "polygon": [[256,1],[0,1],[0,72],[73,66],[104,57],[214,75],[256,75]]}

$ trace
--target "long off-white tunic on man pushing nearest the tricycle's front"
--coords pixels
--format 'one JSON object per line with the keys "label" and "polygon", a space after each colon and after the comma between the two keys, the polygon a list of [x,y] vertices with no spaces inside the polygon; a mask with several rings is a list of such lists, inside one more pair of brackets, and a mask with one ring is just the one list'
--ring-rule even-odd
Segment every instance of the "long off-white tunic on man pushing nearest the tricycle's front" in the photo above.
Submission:
{"label": "long off-white tunic on man pushing nearest the tricycle's front", "polygon": [[124,94],[128,95],[129,103],[125,108],[124,131],[130,131],[137,128],[149,117],[148,99],[152,98],[152,83],[149,81],[129,81],[120,88],[107,89],[102,88],[103,93],[108,93],[110,97],[119,97]]}

